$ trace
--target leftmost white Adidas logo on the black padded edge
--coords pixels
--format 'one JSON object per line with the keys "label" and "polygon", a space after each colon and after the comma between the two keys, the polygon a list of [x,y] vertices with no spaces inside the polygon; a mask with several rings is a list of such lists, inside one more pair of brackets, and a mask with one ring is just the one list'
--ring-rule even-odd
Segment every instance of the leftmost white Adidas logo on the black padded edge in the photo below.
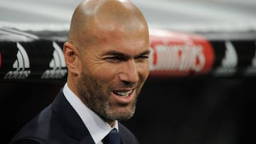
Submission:
{"label": "leftmost white Adidas logo on the black padded edge", "polygon": [[30,70],[27,70],[30,67],[30,63],[26,50],[22,47],[20,43],[17,43],[17,48],[17,59],[13,64],[13,68],[16,70],[9,71],[4,76],[4,79],[26,79],[28,75],[31,73]]}

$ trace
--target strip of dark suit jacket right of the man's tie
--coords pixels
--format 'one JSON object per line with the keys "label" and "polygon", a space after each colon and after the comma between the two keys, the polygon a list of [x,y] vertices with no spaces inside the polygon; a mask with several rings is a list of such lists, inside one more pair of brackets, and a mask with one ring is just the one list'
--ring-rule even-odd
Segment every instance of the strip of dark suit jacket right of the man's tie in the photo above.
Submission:
{"label": "strip of dark suit jacket right of the man's tie", "polygon": [[136,136],[132,131],[129,131],[129,129],[124,126],[122,123],[118,123],[119,133],[121,135],[121,138],[125,143],[132,143],[132,144],[138,144],[139,141],[137,140]]}

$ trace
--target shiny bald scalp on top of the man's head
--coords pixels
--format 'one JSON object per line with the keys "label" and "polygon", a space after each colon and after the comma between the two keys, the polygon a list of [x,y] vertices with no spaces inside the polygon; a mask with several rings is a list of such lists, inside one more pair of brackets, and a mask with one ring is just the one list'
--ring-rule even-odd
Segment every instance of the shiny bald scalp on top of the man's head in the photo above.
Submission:
{"label": "shiny bald scalp on top of the man's head", "polygon": [[142,12],[131,1],[87,0],[73,13],[68,41],[82,48],[94,45],[113,31],[127,36],[138,31],[148,33],[148,27]]}

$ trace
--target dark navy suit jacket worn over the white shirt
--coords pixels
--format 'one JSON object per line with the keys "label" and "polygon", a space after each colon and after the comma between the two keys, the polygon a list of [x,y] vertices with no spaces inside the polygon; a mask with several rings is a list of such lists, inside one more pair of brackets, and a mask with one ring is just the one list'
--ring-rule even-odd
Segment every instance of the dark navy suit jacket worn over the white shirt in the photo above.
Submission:
{"label": "dark navy suit jacket worn over the white shirt", "polygon": [[[136,144],[137,138],[119,123],[123,144]],[[52,104],[16,133],[11,144],[93,144],[92,137],[84,123],[69,104],[62,89]]]}

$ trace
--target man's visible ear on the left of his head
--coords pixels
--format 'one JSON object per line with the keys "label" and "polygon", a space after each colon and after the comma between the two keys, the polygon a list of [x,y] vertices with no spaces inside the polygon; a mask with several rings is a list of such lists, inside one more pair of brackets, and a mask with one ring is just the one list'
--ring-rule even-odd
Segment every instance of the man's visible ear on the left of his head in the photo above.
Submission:
{"label": "man's visible ear on the left of his head", "polygon": [[64,43],[63,52],[65,57],[65,64],[68,67],[68,71],[73,74],[80,72],[80,59],[78,49],[71,43]]}

